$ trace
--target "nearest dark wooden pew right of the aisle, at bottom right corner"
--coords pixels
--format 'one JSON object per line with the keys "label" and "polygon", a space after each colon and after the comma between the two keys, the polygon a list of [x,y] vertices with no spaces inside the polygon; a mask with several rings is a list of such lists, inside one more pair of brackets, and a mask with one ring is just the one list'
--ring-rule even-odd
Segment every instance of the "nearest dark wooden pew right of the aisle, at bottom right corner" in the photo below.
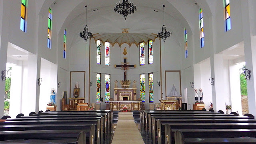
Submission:
{"label": "nearest dark wooden pew right of the aisle, at bottom right corner", "polygon": [[[167,141],[166,144],[170,143]],[[177,130],[175,144],[256,144],[256,138],[185,138],[183,133]]]}

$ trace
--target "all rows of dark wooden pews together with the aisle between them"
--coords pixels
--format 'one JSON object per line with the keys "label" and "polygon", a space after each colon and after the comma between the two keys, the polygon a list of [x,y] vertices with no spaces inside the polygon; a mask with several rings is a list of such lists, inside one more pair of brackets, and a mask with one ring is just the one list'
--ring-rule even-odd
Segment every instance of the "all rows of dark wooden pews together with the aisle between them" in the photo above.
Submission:
{"label": "all rows of dark wooden pews together with the aisle between them", "polygon": [[221,110],[40,111],[0,122],[0,144],[255,144],[255,133],[252,114]]}

